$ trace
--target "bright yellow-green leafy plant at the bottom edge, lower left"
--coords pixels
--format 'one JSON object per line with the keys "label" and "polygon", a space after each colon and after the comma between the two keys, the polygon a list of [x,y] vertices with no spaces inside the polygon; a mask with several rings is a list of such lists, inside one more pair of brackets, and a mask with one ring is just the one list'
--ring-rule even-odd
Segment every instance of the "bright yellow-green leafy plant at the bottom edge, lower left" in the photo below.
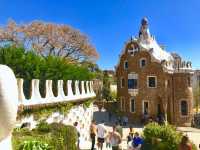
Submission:
{"label": "bright yellow-green leafy plant at the bottom edge, lower left", "polygon": [[24,141],[19,150],[51,150],[51,148],[41,141]]}

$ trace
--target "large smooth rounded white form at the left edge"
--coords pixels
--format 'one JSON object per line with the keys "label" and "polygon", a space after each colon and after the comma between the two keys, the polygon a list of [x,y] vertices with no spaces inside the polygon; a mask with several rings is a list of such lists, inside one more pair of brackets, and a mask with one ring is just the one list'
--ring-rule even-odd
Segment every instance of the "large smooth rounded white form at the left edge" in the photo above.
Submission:
{"label": "large smooth rounded white form at the left edge", "polygon": [[[18,108],[18,88],[17,80],[13,71],[5,66],[0,65],[0,149],[2,143],[10,146],[12,129],[16,123]],[[5,141],[7,141],[5,143]],[[4,147],[5,150],[6,147]]]}

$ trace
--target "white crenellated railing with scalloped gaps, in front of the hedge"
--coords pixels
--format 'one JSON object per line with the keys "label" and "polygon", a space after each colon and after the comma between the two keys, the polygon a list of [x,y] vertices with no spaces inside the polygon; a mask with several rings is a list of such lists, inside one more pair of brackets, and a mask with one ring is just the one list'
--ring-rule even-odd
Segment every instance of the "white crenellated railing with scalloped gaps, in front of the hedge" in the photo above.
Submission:
{"label": "white crenellated railing with scalloped gaps, in front of the hedge", "polygon": [[[80,101],[88,98],[95,97],[95,93],[93,90],[93,82],[92,81],[75,81],[75,90],[72,90],[72,80],[67,81],[67,87],[63,88],[63,80],[57,81],[57,96],[53,93],[53,82],[52,80],[45,81],[45,96],[42,97],[39,89],[40,80],[33,79],[31,80],[31,88],[28,91],[30,94],[30,98],[25,97],[24,93],[24,80],[17,79],[18,84],[18,99],[19,105],[38,105],[38,104],[50,104],[57,102],[67,102],[67,101]],[[81,86],[79,86],[79,82]],[[64,91],[66,89],[66,91]],[[65,94],[67,93],[67,95]]]}

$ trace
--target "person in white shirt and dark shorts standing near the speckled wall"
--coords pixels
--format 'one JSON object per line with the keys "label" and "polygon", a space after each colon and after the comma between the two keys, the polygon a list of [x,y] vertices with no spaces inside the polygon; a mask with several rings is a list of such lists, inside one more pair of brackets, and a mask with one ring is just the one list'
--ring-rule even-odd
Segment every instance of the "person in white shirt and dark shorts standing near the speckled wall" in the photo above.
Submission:
{"label": "person in white shirt and dark shorts standing near the speckled wall", "polygon": [[104,121],[101,121],[100,124],[97,125],[97,146],[98,149],[103,149],[103,143],[105,141],[105,134],[106,134],[106,128],[104,126]]}

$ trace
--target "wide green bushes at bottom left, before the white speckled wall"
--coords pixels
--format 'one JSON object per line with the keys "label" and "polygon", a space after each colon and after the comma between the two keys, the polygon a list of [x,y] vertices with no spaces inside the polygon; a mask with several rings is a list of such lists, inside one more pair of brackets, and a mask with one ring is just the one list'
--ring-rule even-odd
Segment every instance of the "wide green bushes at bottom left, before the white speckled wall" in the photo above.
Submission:
{"label": "wide green bushes at bottom left, before the white speckled wall", "polygon": [[[44,124],[43,124],[44,125]],[[35,146],[44,146],[44,150],[76,150],[77,131],[73,126],[66,126],[61,123],[45,124],[45,128],[49,130],[43,132],[36,128],[32,131],[14,130],[12,136],[12,144],[14,150],[23,150],[22,148]],[[47,127],[48,126],[48,127]],[[36,142],[35,142],[36,141]],[[29,150],[29,149],[24,149]],[[30,150],[39,150],[30,149]],[[43,149],[41,149],[43,150]]]}

